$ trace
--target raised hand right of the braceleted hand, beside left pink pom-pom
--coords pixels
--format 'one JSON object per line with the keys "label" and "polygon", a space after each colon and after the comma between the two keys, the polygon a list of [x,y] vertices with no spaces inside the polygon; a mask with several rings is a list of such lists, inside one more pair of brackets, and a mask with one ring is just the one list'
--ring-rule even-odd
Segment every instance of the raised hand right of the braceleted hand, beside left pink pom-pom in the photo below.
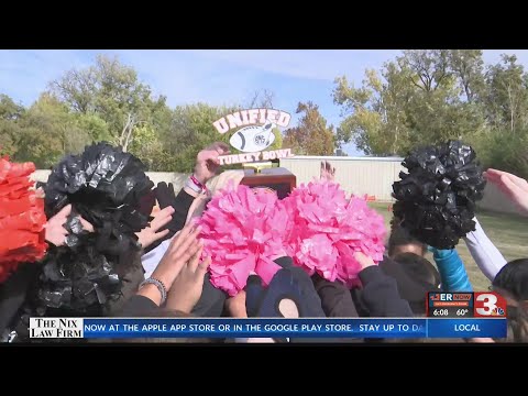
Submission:
{"label": "raised hand right of the braceleted hand, beside left pink pom-pom", "polygon": [[209,264],[211,264],[211,257],[200,260],[202,251],[204,248],[200,248],[190,257],[174,280],[167,296],[166,308],[190,314],[200,299],[204,290],[204,277]]}

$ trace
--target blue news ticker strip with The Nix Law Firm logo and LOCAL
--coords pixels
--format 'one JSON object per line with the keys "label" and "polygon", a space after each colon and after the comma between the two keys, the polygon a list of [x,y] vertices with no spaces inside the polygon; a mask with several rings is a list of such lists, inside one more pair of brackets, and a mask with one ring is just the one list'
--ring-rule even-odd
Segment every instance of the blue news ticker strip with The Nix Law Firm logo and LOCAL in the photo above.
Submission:
{"label": "blue news ticker strip with The Nix Law Firm logo and LOCAL", "polygon": [[35,339],[505,338],[505,318],[31,318]]}

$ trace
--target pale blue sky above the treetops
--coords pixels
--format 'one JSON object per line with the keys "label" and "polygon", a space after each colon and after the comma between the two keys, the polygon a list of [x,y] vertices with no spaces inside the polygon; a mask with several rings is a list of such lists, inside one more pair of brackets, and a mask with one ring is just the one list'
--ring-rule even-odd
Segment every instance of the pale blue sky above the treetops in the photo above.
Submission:
{"label": "pale blue sky above the treetops", "polygon": [[[338,125],[333,79],[345,75],[361,85],[366,68],[380,69],[398,50],[0,50],[0,94],[31,105],[47,84],[72,68],[94,64],[97,54],[118,55],[138,70],[170,107],[191,102],[245,103],[258,89],[274,92],[277,109],[295,113],[299,101],[312,100],[329,123]],[[528,66],[527,50],[485,50],[484,61],[516,54]],[[361,155],[354,146],[349,155]]]}

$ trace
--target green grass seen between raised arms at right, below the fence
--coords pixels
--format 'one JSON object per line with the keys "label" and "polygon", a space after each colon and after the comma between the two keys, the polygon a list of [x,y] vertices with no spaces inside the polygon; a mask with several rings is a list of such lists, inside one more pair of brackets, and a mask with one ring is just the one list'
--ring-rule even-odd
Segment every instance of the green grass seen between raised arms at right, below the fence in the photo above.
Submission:
{"label": "green grass seen between raised arms at right, below the fence", "polygon": [[[371,202],[370,206],[384,217],[388,229],[393,216],[393,212],[388,211],[389,204]],[[480,211],[476,216],[487,237],[507,261],[528,257],[528,218],[491,211]],[[475,292],[487,290],[490,280],[479,270],[463,241],[459,243],[457,250],[464,261],[473,289]],[[427,258],[435,263],[432,255]]]}

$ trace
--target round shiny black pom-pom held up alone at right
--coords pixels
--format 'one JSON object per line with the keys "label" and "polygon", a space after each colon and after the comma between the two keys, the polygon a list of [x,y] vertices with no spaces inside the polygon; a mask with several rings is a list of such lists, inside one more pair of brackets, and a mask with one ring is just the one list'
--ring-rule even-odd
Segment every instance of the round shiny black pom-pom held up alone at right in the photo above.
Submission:
{"label": "round shiny black pom-pom held up alone at right", "polygon": [[393,184],[394,216],[409,233],[437,249],[453,249],[475,230],[475,202],[486,182],[476,154],[460,141],[413,151],[408,173]]}

